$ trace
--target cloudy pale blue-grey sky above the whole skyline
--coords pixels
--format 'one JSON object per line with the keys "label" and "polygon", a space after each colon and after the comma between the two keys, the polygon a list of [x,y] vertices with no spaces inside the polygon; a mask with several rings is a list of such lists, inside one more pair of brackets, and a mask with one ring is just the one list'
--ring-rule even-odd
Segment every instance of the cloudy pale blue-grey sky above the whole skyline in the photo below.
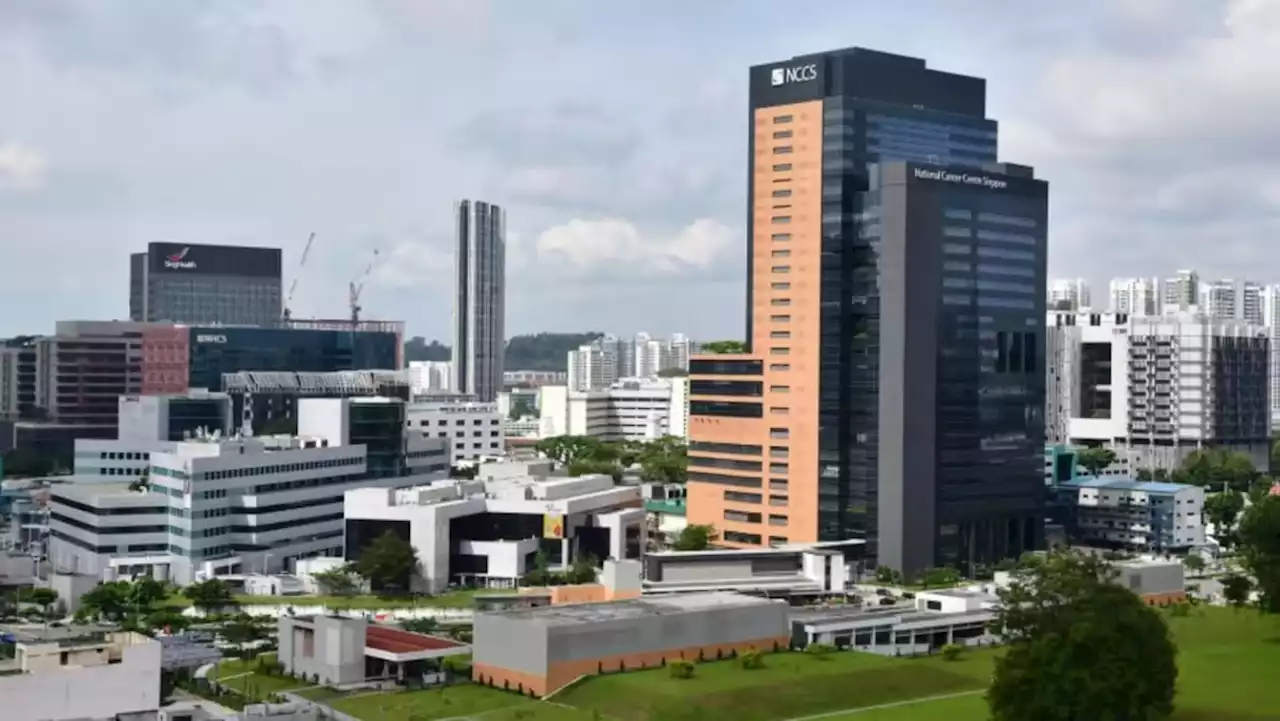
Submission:
{"label": "cloudy pale blue-grey sky above the whole skyline", "polygon": [[[0,0],[0,336],[128,315],[148,241],[285,248],[298,316],[449,327],[456,197],[511,333],[742,328],[748,67],[988,78],[1051,273],[1280,282],[1280,1]],[[1094,289],[1098,293],[1098,289]]]}

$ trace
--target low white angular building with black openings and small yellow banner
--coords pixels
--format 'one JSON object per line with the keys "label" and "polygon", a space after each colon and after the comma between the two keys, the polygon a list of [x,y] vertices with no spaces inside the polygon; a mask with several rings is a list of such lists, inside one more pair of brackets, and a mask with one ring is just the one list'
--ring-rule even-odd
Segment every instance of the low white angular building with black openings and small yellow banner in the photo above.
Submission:
{"label": "low white angular building with black openings and small yellow banner", "polygon": [[[511,464],[486,464],[500,471]],[[640,488],[607,475],[438,480],[408,488],[361,488],[346,494],[347,560],[393,531],[421,563],[415,590],[449,584],[515,588],[543,553],[552,567],[593,557],[639,558],[645,543]]]}

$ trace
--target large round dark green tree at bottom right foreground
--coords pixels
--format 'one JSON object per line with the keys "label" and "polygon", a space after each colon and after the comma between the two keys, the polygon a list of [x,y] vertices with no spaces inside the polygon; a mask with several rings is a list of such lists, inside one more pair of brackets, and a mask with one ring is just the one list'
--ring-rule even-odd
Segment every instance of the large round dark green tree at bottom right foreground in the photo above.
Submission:
{"label": "large round dark green tree at bottom right foreground", "polygon": [[1000,592],[993,721],[1146,721],[1172,712],[1176,649],[1160,612],[1114,583],[1106,561],[1069,551],[1032,560]]}

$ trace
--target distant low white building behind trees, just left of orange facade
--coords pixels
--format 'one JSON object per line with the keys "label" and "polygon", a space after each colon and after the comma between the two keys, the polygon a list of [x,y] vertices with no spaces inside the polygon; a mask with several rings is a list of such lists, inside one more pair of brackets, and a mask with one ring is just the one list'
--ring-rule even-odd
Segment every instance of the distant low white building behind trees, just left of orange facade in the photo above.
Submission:
{"label": "distant low white building behind trees, just left of orange facade", "polygon": [[539,389],[543,438],[590,435],[602,441],[689,437],[689,379],[626,379],[603,391],[567,385]]}

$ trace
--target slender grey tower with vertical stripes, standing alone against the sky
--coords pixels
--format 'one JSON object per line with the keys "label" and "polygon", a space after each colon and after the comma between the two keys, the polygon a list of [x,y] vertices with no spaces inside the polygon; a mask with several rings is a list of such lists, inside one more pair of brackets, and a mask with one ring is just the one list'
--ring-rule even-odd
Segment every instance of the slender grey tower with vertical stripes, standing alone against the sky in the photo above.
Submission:
{"label": "slender grey tower with vertical stripes, standing alone against the sky", "polygon": [[479,200],[454,207],[453,391],[483,403],[502,392],[507,350],[507,220]]}

